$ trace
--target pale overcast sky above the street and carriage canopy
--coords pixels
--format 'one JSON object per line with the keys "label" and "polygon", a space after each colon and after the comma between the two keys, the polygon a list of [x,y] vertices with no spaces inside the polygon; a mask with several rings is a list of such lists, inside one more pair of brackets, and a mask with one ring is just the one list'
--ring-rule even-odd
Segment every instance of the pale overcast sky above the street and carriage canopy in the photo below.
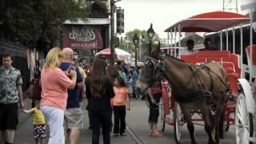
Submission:
{"label": "pale overcast sky above the street and carriage canopy", "polygon": [[[256,0],[238,0],[240,4]],[[117,3],[125,10],[125,32],[148,30],[150,23],[160,38],[167,38],[163,32],[167,27],[195,14],[222,10],[223,0],[122,0]],[[241,12],[241,10],[239,10]]]}

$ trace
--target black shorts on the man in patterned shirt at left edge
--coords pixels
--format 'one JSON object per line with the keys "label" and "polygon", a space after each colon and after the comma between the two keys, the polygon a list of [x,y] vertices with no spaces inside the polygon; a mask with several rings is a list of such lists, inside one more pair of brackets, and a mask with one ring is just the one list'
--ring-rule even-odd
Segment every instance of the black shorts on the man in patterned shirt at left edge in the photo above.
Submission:
{"label": "black shorts on the man in patterned shirt at left edge", "polygon": [[0,130],[16,130],[18,125],[18,103],[0,103]]}

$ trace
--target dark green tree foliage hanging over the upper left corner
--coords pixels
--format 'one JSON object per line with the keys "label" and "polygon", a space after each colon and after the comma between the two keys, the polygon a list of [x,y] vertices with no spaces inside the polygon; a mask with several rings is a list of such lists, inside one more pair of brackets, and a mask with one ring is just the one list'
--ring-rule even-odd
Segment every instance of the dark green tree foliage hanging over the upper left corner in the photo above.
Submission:
{"label": "dark green tree foliage hanging over the upper left corner", "polygon": [[85,0],[2,0],[1,30],[14,40],[36,43],[46,30],[49,38],[62,38],[66,19],[85,18]]}

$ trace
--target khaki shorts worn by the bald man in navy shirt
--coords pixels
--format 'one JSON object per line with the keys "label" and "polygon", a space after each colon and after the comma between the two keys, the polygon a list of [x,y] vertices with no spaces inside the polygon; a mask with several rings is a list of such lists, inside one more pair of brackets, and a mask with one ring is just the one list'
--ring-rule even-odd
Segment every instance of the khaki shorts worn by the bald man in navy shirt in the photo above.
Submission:
{"label": "khaki shorts worn by the bald man in navy shirt", "polygon": [[81,108],[69,108],[64,112],[64,128],[83,129],[83,114]]}

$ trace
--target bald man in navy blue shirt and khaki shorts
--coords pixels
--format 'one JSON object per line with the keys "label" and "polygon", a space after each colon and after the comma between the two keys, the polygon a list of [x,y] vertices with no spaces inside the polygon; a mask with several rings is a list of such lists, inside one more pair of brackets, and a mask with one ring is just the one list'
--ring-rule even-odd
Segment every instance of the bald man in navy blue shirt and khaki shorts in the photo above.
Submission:
{"label": "bald man in navy blue shirt and khaki shorts", "polygon": [[[74,51],[70,48],[64,48],[62,53],[64,58],[62,58],[60,68],[63,71],[66,71],[72,66],[72,69],[77,73],[77,85],[74,87],[74,90],[68,90],[66,110],[64,113],[65,132],[71,130],[70,143],[76,144],[78,142],[80,130],[83,128],[83,115],[79,104],[79,91],[83,89],[84,82],[78,67],[71,63],[74,60]],[[67,134],[65,134],[65,138],[67,139]]]}

